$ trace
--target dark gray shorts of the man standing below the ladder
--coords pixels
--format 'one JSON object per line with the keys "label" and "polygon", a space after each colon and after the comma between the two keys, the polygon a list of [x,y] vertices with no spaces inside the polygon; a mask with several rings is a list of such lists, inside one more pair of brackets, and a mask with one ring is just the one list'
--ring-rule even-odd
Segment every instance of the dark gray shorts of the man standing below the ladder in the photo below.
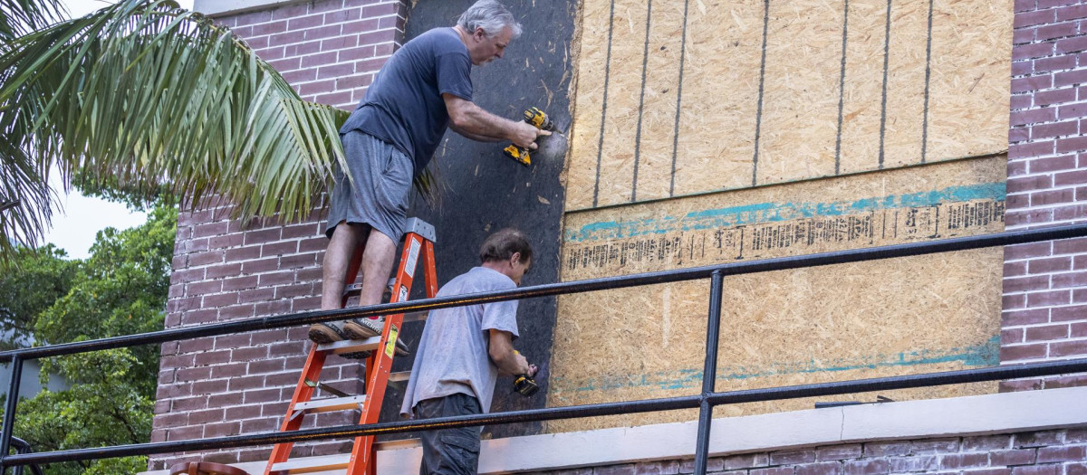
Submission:
{"label": "dark gray shorts of the man standing below the ladder", "polygon": [[[466,394],[423,399],[415,403],[415,419],[448,418],[483,413],[479,400]],[[420,475],[475,475],[479,470],[479,433],[482,427],[457,427],[425,431],[423,463]]]}

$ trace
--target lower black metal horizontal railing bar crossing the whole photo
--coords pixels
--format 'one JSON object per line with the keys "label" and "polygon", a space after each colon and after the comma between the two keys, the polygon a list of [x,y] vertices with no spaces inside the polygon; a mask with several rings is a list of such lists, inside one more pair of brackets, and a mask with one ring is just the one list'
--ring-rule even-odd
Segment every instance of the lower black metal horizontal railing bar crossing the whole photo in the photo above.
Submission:
{"label": "lower black metal horizontal railing bar crossing the whole photo", "polygon": [[[867,393],[888,389],[905,389],[911,387],[938,386],[959,383],[978,383],[984,381],[1013,380],[1019,377],[1051,376],[1057,374],[1087,372],[1087,358],[1046,361],[1008,367],[980,368],[974,370],[946,371],[938,373],[913,374],[909,376],[874,377],[833,383],[805,384],[799,386],[782,386],[762,389],[745,389],[725,393],[711,393],[709,398],[714,406],[740,402],[769,401],[792,399],[811,396],[833,396],[852,393]],[[4,466],[26,465],[30,463],[45,464],[68,462],[75,460],[107,459],[113,457],[149,455],[154,453],[182,452],[190,450],[213,450],[233,447],[247,447],[282,442],[300,442],[324,440],[330,438],[351,438],[397,434],[410,431],[427,431],[437,428],[467,427],[477,425],[510,424],[520,422],[551,421],[557,419],[579,419],[600,415],[630,414],[639,412],[671,411],[678,409],[695,409],[699,407],[700,396],[683,396],[674,398],[646,399],[638,401],[604,402],[598,405],[570,406],[563,408],[529,409],[510,411],[497,414],[459,415],[450,418],[428,419],[413,422],[387,422],[370,425],[345,425],[338,427],[303,429],[291,433],[254,434],[230,437],[216,437],[203,440],[179,440],[153,444],[134,444],[127,446],[102,447],[92,449],[58,450],[52,452],[24,453],[0,457]]]}

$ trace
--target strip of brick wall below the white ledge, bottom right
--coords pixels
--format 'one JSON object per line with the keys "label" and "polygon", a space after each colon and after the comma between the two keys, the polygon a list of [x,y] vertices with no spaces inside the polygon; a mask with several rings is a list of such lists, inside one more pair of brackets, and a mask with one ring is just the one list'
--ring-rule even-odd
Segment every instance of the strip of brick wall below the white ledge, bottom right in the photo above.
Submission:
{"label": "strip of brick wall below the white ledge, bottom right", "polygon": [[[1087,475],[1087,428],[977,437],[872,441],[745,453],[708,461],[727,475]],[[689,474],[694,460],[628,463],[550,475]]]}

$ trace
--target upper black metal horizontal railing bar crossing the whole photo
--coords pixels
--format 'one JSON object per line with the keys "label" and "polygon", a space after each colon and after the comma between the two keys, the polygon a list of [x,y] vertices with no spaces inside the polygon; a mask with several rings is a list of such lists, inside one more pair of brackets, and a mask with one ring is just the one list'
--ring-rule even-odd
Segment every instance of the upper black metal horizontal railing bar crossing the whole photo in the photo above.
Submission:
{"label": "upper black metal horizontal railing bar crossing the whole photo", "polygon": [[204,336],[228,335],[251,332],[255,330],[279,329],[313,324],[346,318],[373,317],[388,313],[425,311],[438,308],[459,307],[483,303],[514,300],[521,298],[547,297],[559,294],[576,294],[583,292],[604,291],[612,288],[633,287],[648,284],[689,281],[709,278],[714,270],[721,270],[724,275],[769,272],[774,270],[799,269],[805,267],[828,266],[835,264],[859,262],[864,260],[889,259],[895,257],[919,256],[924,254],[966,251],[982,247],[1025,244],[1039,241],[1051,241],[1087,236],[1087,224],[1063,226],[1024,231],[1007,231],[991,234],[951,238],[946,240],[926,241],[921,243],[895,244],[889,246],[866,247],[860,249],[834,251],[803,256],[777,257],[772,259],[750,260],[725,265],[703,266],[690,269],[665,270],[634,275],[589,279],[573,282],[533,285],[509,291],[486,292],[459,295],[454,297],[425,298],[398,304],[380,304],[368,307],[354,307],[338,310],[316,310],[301,313],[289,313],[257,319],[239,320],[225,323],[212,323],[184,329],[162,330],[136,335],[114,336],[86,342],[64,343],[60,345],[40,346],[0,351],[0,362],[10,361],[18,355],[24,359],[47,358],[77,352],[97,351],[135,345],[150,345],[178,339],[199,338]]}

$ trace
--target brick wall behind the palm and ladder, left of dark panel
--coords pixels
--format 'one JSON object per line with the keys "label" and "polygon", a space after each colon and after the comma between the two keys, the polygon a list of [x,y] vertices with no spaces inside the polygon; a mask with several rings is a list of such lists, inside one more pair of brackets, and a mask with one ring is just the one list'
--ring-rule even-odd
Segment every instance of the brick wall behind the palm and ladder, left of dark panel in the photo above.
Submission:
{"label": "brick wall behind the palm and ladder, left of dark panel", "polygon": [[[373,75],[403,38],[400,0],[325,0],[218,18],[268,61],[309,101],[353,108]],[[178,218],[166,328],[251,319],[320,307],[323,215],[284,224],[242,226],[227,206]],[[298,383],[305,328],[197,338],[162,346],[152,441],[276,431]],[[361,365],[330,357],[322,381],[362,393]],[[358,415],[307,418],[303,427],[353,424]],[[295,457],[338,453],[345,441],[299,445]],[[270,447],[202,460],[266,459]],[[153,458],[163,468],[193,457]]]}

